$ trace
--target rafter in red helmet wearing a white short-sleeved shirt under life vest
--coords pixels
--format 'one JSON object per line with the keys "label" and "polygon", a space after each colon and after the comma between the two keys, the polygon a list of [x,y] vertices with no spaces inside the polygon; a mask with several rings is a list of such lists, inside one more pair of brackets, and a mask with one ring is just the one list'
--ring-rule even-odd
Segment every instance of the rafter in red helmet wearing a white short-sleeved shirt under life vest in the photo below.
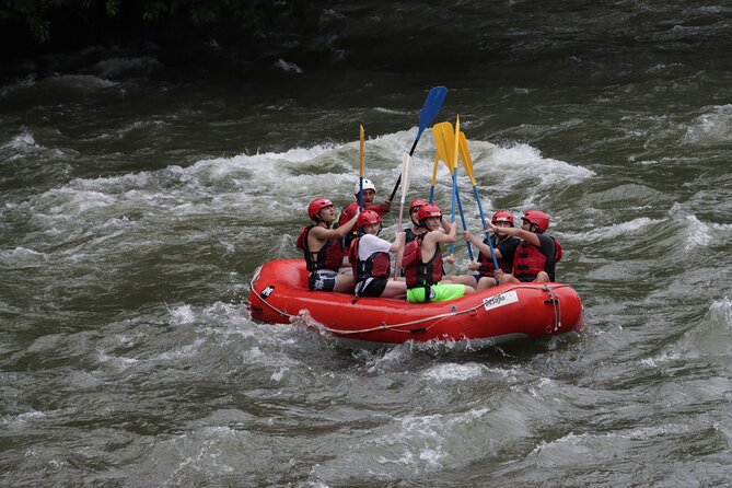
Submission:
{"label": "rafter in red helmet wearing a white short-sleeved shirt under life vest", "polygon": [[393,243],[379,237],[381,217],[372,210],[361,212],[357,225],[362,235],[351,242],[348,253],[356,279],[356,299],[404,295],[407,292],[406,283],[390,279],[392,268],[388,254],[402,248],[404,232],[397,233]]}

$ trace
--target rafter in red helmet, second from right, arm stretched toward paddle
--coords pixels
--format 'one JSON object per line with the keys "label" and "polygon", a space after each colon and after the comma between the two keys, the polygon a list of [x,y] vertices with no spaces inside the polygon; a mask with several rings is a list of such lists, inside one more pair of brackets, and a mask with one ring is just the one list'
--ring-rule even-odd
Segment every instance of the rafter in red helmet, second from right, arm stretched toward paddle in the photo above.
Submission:
{"label": "rafter in red helmet, second from right, arm stretched toward paddle", "polygon": [[[508,210],[499,210],[493,213],[490,222],[497,228],[512,228],[513,214],[511,214],[511,212]],[[486,288],[498,284],[498,278],[495,276],[496,266],[493,265],[493,258],[490,253],[490,246],[488,245],[488,239],[484,239],[481,242],[467,231],[463,232],[463,237],[465,241],[476,246],[480,252],[478,255],[478,262],[472,262],[468,265],[468,269],[472,271],[478,271],[478,275],[476,276],[476,290],[485,290]],[[513,237],[508,234],[498,234],[496,232],[492,233],[490,240],[491,244],[493,245],[493,252],[496,253],[498,267],[503,272],[511,272],[513,269],[513,256],[515,254],[516,247],[519,244],[521,244],[521,241],[518,237]]]}

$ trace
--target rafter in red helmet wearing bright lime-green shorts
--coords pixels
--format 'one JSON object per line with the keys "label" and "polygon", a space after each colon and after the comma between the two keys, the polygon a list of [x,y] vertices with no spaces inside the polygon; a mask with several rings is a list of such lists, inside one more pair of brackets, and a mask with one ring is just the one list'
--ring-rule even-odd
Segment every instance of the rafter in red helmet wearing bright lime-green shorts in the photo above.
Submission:
{"label": "rafter in red helmet wearing bright lime-green shorts", "polygon": [[423,205],[417,218],[427,232],[405,246],[402,264],[405,268],[407,300],[413,303],[442,302],[473,293],[473,287],[455,283],[442,276],[440,244],[455,242],[457,224],[453,222],[450,232],[443,232],[442,211],[434,204]]}

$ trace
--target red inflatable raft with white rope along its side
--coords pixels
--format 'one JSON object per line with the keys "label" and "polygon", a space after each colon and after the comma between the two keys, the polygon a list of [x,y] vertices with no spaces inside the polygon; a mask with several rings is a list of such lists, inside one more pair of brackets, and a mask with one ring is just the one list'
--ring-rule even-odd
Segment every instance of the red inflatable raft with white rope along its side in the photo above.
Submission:
{"label": "red inflatable raft with white rope along its side", "polygon": [[582,330],[582,302],[565,283],[502,284],[448,302],[352,300],[352,294],[310,291],[304,259],[275,259],[255,272],[248,309],[252,318],[304,322],[357,347],[407,340],[484,346]]}

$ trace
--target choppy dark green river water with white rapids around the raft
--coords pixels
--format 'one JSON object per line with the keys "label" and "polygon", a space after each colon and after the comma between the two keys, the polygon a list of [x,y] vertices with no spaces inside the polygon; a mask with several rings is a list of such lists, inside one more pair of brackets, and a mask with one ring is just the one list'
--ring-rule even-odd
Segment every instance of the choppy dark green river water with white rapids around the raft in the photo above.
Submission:
{"label": "choppy dark green river water with white rapids around the raft", "polygon": [[[312,70],[7,68],[0,484],[732,485],[732,5],[548,3],[336,2]],[[383,198],[434,85],[486,211],[550,216],[585,330],[367,351],[249,319],[310,199],[351,198],[359,124]]]}

